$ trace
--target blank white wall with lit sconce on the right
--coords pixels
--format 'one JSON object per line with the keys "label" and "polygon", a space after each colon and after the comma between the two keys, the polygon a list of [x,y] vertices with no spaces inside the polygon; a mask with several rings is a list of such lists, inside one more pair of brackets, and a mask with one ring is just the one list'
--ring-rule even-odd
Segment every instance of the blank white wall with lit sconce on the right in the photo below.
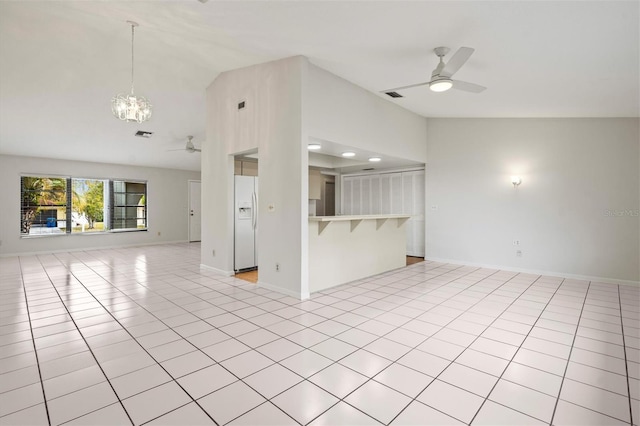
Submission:
{"label": "blank white wall with lit sconce on the right", "polygon": [[638,282],[638,123],[428,119],[427,258]]}

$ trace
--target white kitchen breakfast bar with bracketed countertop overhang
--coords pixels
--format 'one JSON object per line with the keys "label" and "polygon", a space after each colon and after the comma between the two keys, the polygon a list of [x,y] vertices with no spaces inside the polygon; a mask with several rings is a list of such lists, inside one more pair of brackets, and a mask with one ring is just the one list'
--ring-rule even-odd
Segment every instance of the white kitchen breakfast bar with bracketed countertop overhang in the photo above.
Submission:
{"label": "white kitchen breakfast bar with bracketed countertop overhang", "polygon": [[405,266],[410,217],[309,217],[309,292]]}

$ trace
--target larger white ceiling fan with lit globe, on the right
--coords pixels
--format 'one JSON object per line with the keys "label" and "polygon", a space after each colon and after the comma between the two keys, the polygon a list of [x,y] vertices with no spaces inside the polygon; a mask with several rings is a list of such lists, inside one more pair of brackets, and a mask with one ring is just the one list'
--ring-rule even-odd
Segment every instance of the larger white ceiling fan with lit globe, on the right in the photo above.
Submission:
{"label": "larger white ceiling fan with lit globe, on the right", "polygon": [[451,78],[465,64],[465,62],[467,62],[474,50],[475,49],[472,49],[471,47],[461,47],[456,53],[454,53],[451,59],[445,63],[443,58],[447,53],[449,53],[450,49],[448,47],[436,47],[433,51],[436,56],[440,58],[440,62],[436,69],[431,73],[431,80],[425,81],[424,83],[410,84],[408,86],[384,90],[383,93],[386,93],[392,98],[401,98],[402,95],[397,93],[398,90],[426,85],[429,85],[429,89],[433,92],[444,92],[454,88],[464,90],[465,92],[480,93],[485,90],[486,87],[475,83],[468,83],[466,81],[453,80]]}

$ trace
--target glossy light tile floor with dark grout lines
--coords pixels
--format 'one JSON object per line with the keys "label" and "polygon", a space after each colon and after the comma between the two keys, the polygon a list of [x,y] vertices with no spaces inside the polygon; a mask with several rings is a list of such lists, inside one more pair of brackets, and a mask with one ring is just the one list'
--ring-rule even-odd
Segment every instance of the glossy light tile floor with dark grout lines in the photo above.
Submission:
{"label": "glossy light tile floor with dark grout lines", "polygon": [[636,287],[422,262],[300,302],[199,262],[0,259],[0,424],[638,424]]}

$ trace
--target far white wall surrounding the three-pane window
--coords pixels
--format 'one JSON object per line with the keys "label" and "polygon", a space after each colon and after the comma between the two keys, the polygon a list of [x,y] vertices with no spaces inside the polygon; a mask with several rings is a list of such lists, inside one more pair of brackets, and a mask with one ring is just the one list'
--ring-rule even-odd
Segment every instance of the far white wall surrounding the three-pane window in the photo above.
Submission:
{"label": "far white wall surrounding the three-pane window", "polygon": [[[20,176],[47,174],[147,181],[148,231],[21,238]],[[0,155],[0,255],[186,241],[189,179],[200,179],[200,173]]]}

